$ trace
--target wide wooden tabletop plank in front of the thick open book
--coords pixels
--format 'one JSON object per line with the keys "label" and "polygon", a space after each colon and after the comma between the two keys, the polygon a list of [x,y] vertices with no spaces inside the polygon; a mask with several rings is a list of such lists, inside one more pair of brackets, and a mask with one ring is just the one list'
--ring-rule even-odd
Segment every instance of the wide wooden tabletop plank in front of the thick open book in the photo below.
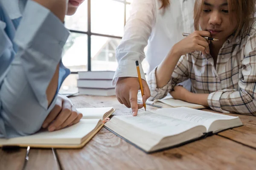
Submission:
{"label": "wide wooden tabletop plank in front of the thick open book", "polygon": [[64,170],[246,170],[256,167],[256,150],[211,136],[160,153],[146,154],[103,128],[82,149],[57,150]]}

